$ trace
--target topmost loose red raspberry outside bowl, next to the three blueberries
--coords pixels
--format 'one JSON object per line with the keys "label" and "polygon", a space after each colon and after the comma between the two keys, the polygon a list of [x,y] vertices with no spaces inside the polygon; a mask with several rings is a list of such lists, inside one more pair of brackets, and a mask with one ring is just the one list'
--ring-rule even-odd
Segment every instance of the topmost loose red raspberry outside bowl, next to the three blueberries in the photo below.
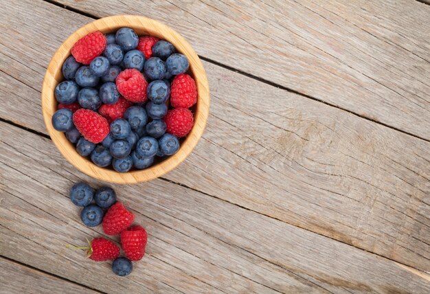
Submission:
{"label": "topmost loose red raspberry outside bowl, next to the three blueberries", "polygon": [[102,226],[104,233],[108,235],[120,234],[135,220],[135,215],[126,210],[120,202],[112,205],[104,214]]}

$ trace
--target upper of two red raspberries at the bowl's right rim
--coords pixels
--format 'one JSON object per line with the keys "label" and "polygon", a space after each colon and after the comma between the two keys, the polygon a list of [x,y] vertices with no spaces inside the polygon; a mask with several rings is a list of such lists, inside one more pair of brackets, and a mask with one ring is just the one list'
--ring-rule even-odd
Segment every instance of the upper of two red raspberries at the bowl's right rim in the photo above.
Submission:
{"label": "upper of two red raspberries at the bowl's right rim", "polygon": [[196,82],[188,74],[179,74],[172,81],[170,104],[174,108],[190,108],[197,102]]}

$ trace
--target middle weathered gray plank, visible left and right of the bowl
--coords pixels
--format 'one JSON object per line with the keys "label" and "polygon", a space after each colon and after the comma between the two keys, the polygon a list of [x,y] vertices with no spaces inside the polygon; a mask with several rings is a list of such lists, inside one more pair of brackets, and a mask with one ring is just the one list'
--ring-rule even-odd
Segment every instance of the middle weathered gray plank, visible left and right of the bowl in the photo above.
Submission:
{"label": "middle weathered gray plank, visible left and right of the bowl", "polygon": [[[89,19],[45,2],[34,3],[32,9],[1,9],[10,16],[1,23],[9,25],[0,32],[2,38],[14,34],[16,20],[32,14],[35,22],[20,27],[28,50],[0,45],[0,81],[5,84],[0,88],[0,115],[45,133],[42,117],[34,111],[40,109],[37,90],[43,66],[62,34]],[[68,21],[60,21],[64,19]],[[55,20],[58,25],[45,34],[43,27]],[[37,44],[37,50],[31,49]],[[205,68],[213,93],[207,131],[195,152],[167,179],[429,269],[428,142],[210,63]],[[19,103],[7,103],[10,100]]]}

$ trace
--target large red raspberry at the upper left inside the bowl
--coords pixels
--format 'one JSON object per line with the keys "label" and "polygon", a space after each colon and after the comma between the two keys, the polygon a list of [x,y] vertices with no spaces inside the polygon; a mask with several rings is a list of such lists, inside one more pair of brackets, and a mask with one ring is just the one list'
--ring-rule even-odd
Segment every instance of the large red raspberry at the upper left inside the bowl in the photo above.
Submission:
{"label": "large red raspberry at the upper left inside the bowl", "polygon": [[89,65],[91,60],[102,54],[106,47],[106,37],[102,32],[96,31],[80,38],[71,48],[71,55],[84,65]]}

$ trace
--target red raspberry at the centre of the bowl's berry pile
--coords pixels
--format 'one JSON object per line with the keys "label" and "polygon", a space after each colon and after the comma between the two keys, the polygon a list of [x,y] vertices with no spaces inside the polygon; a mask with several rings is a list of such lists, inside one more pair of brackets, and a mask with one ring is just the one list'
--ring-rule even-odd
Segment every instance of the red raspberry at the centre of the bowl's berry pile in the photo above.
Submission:
{"label": "red raspberry at the centre of the bowl's berry pile", "polygon": [[146,82],[144,76],[137,69],[126,69],[117,76],[117,90],[127,100],[143,103],[146,98]]}

